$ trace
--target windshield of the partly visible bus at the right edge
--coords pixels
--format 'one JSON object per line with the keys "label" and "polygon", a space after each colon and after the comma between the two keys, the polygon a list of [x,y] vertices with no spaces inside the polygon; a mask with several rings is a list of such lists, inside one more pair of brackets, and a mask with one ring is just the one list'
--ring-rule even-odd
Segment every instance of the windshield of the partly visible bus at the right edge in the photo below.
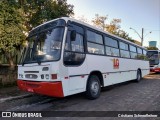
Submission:
{"label": "windshield of the partly visible bus at the right edge", "polygon": [[159,64],[158,51],[148,51],[147,56],[149,58],[150,65],[158,65]]}

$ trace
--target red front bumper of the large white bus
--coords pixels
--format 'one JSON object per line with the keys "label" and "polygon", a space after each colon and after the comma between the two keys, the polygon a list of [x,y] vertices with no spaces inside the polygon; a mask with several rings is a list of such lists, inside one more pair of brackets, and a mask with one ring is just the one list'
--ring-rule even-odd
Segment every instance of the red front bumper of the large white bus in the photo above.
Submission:
{"label": "red front bumper of the large white bus", "polygon": [[17,80],[19,89],[53,97],[64,97],[62,82],[32,82]]}

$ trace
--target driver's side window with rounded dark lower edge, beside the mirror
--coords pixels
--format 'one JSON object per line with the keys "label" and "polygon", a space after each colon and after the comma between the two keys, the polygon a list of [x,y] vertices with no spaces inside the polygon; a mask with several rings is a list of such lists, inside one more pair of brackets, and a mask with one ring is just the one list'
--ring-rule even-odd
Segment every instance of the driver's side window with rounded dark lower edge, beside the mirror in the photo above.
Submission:
{"label": "driver's side window with rounded dark lower edge, beside the mirror", "polygon": [[85,58],[83,34],[76,32],[75,41],[71,41],[70,34],[71,31],[68,31],[65,43],[64,64],[80,65]]}

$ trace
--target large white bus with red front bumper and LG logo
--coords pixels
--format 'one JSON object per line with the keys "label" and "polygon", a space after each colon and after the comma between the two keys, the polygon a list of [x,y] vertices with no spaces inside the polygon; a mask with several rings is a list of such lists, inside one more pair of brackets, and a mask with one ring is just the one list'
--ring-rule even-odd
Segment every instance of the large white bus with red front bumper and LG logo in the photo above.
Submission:
{"label": "large white bus with red front bumper and LG logo", "polygon": [[101,88],[149,73],[147,50],[78,20],[62,17],[30,31],[18,65],[23,91],[53,97],[84,92],[96,99]]}

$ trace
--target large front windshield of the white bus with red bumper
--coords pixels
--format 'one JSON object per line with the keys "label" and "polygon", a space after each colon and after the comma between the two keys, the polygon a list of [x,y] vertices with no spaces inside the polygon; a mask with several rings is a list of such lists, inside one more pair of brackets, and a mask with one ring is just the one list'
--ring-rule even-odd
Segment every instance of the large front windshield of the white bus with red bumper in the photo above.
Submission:
{"label": "large front windshield of the white bus with red bumper", "polygon": [[[35,31],[34,31],[35,32]],[[60,58],[64,27],[52,27],[29,35],[22,54],[22,64],[56,61]],[[33,34],[33,33],[31,33]]]}

